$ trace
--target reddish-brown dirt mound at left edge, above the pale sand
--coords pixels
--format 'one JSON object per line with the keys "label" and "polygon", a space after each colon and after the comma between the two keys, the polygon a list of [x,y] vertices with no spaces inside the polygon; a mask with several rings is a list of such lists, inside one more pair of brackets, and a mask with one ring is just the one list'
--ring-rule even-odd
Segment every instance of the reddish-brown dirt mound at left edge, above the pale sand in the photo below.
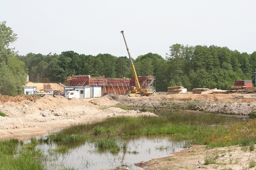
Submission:
{"label": "reddish-brown dirt mound at left edge, above the pale sand", "polygon": [[40,99],[40,97],[38,97],[37,95],[18,95],[16,97],[0,95],[1,103],[6,103],[8,101],[19,103],[20,101],[23,101],[23,100],[36,101],[38,99]]}

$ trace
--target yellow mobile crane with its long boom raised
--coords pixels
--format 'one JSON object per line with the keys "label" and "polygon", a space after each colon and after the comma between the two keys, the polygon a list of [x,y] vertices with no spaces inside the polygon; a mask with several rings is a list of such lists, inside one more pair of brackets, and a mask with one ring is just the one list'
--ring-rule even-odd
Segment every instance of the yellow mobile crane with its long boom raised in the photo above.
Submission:
{"label": "yellow mobile crane with its long boom raised", "polygon": [[[124,31],[121,31],[121,33],[123,34],[123,37],[124,37]],[[129,55],[129,59],[130,59],[130,64],[131,64],[131,67],[132,67],[132,72],[133,72],[133,75],[134,75],[134,79],[135,79],[135,87],[132,86],[131,87],[131,93],[132,94],[140,94],[142,96],[146,95],[146,96],[149,96],[149,95],[152,95],[153,94],[153,91],[151,89],[142,89],[140,87],[140,83],[139,83],[139,80],[138,80],[138,77],[137,77],[137,74],[136,74],[136,71],[135,71],[135,67],[133,65],[133,62],[132,62],[132,57],[130,55],[130,52],[129,52],[129,48],[127,47],[127,43],[126,43],[126,40],[124,38],[124,43],[126,45],[126,49],[127,49],[127,52],[128,52],[128,55]]]}

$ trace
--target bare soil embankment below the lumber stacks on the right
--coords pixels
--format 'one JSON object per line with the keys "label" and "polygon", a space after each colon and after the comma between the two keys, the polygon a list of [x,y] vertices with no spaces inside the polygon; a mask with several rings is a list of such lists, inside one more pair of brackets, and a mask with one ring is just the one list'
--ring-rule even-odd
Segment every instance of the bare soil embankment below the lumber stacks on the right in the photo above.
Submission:
{"label": "bare soil embankment below the lumber stacks on the right", "polygon": [[256,94],[175,94],[137,97],[126,101],[119,100],[118,105],[151,109],[182,109],[207,111],[225,115],[248,115],[256,110]]}

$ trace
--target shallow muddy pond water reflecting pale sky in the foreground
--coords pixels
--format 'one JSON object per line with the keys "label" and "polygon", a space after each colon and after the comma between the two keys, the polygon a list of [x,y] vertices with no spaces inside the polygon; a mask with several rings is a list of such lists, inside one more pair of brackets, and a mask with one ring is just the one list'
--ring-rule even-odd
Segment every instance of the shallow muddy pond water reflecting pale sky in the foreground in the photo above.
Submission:
{"label": "shallow muddy pond water reflecting pale sky in the foreground", "polygon": [[98,152],[94,143],[87,142],[80,146],[70,146],[68,153],[65,154],[54,152],[56,144],[42,144],[38,148],[48,155],[46,165],[49,170],[64,168],[96,170],[116,167],[137,170],[140,167],[135,166],[134,163],[170,156],[172,152],[186,149],[187,143],[175,142],[167,135],[140,136],[126,142],[127,149],[121,150],[118,154],[112,154],[109,151]]}

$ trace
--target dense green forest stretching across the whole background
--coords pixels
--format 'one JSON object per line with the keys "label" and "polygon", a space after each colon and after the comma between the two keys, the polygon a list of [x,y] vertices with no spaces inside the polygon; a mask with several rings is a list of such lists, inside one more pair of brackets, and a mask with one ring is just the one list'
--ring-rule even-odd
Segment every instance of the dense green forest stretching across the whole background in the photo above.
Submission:
{"label": "dense green forest stretching across the whole background", "polygon": [[[111,54],[85,55],[74,51],[48,55],[28,53],[18,55],[9,43],[17,39],[11,28],[1,23],[0,93],[17,95],[22,91],[25,75],[30,81],[41,82],[49,77],[52,82],[62,82],[71,75],[105,76],[112,78],[133,77],[128,57]],[[4,38],[7,37],[7,38]],[[6,42],[4,42],[6,40]],[[169,86],[228,89],[236,80],[252,80],[255,83],[256,51],[240,53],[228,47],[209,47],[174,44],[165,58],[147,53],[134,59],[138,76],[156,76],[156,91],[167,91]],[[11,77],[11,79],[10,79]],[[7,92],[12,87],[12,93]]]}

